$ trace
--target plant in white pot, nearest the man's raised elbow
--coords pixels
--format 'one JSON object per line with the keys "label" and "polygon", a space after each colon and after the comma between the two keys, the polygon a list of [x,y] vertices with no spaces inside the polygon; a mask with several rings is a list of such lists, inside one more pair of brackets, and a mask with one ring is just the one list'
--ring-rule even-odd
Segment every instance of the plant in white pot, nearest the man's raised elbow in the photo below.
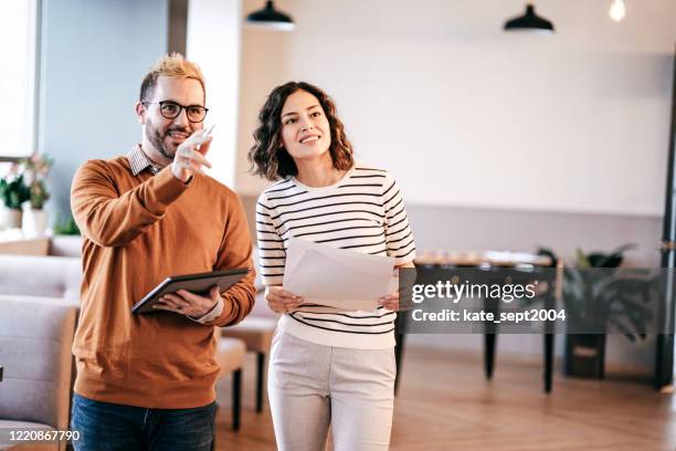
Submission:
{"label": "plant in white pot, nearest the man's raised elbow", "polygon": [[50,199],[46,188],[46,177],[54,160],[45,154],[33,154],[21,161],[23,175],[29,186],[30,209],[23,214],[23,233],[27,237],[42,237],[47,226],[47,212],[44,204]]}

